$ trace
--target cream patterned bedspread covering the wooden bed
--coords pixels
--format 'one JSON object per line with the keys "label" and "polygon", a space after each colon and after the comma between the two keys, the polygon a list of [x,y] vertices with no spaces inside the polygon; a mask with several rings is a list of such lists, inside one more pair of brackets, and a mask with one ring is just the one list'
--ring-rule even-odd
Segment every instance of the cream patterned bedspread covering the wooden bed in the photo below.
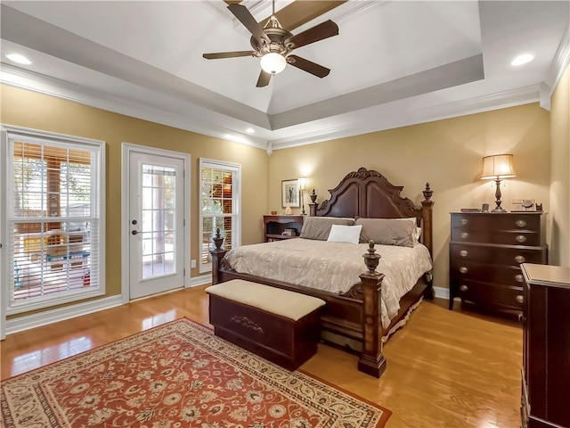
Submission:
{"label": "cream patterned bedspread covering the wooden bed", "polygon": [[[368,243],[329,243],[289,239],[237,247],[225,256],[230,267],[243,274],[262,276],[319,290],[347,292],[366,270],[362,254]],[[385,275],[381,293],[381,320],[386,328],[400,309],[400,299],[419,277],[432,268],[428,249],[376,245],[382,256],[377,270]]]}

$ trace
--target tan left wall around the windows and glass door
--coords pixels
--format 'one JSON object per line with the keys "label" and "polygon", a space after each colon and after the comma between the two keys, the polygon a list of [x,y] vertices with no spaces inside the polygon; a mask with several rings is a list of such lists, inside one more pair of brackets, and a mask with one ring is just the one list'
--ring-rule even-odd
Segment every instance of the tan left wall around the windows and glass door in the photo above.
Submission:
{"label": "tan left wall around the windows and glass door", "polygon": [[[1,86],[5,125],[35,128],[106,142],[106,283],[107,295],[121,292],[121,143],[158,147],[191,154],[191,259],[199,259],[199,158],[241,164],[242,243],[263,240],[261,220],[267,210],[268,166],[264,150],[202,136],[177,128],[102,111],[49,95]],[[253,221],[252,221],[253,219]],[[191,276],[199,276],[192,269]]]}

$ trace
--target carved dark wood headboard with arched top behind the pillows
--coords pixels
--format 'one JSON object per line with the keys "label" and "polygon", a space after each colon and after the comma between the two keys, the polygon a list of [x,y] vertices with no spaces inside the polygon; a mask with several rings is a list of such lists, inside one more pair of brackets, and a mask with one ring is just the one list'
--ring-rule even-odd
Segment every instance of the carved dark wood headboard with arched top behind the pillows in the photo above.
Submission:
{"label": "carved dark wood headboard with arched top behind the pillows", "polygon": [[[403,185],[392,185],[378,171],[359,168],[350,172],[330,192],[330,199],[321,204],[309,204],[311,216],[349,218],[410,218],[418,219],[422,228],[421,242],[432,253],[432,206],[433,191],[426,183],[422,191],[421,207],[400,193]],[[315,194],[311,199],[316,199]]]}

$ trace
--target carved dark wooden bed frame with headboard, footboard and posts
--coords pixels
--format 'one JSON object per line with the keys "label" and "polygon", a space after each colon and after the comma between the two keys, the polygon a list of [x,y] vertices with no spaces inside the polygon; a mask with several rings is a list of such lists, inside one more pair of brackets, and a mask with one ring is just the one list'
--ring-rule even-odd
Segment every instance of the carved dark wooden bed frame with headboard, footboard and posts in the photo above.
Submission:
{"label": "carved dark wooden bed frame with headboard, footboard and posts", "polygon": [[[400,196],[403,186],[392,185],[378,171],[360,168],[351,172],[330,190],[330,199],[316,203],[317,195],[311,194],[309,204],[311,216],[330,216],[348,218],[417,218],[422,228],[420,242],[432,253],[432,207],[433,191],[426,184],[423,190],[424,200],[417,207],[408,199]],[[400,300],[401,309],[387,329],[380,322],[379,293],[384,275],[368,269],[360,276],[360,281],[344,294],[322,292],[314,288],[283,283],[259,276],[250,276],[235,272],[225,264],[226,251],[222,248],[224,238],[214,238],[216,249],[212,255],[212,284],[240,278],[260,284],[302,292],[318,297],[327,302],[322,310],[321,324],[325,340],[346,338],[345,346],[360,352],[358,369],[366,374],[379,377],[386,369],[386,359],[382,352],[387,335],[398,325],[403,325],[409,312],[415,308],[422,297],[433,298],[431,271],[422,276],[410,292]],[[368,263],[368,260],[365,260]],[[378,260],[376,261],[378,265]],[[364,264],[363,264],[364,265]],[[363,269],[366,268],[363,266]],[[355,281],[357,281],[355,279]],[[334,341],[334,340],[333,340]],[[337,341],[334,341],[337,342]],[[339,343],[339,342],[337,342]],[[354,346],[355,344],[355,346]],[[359,349],[360,348],[360,349]]]}

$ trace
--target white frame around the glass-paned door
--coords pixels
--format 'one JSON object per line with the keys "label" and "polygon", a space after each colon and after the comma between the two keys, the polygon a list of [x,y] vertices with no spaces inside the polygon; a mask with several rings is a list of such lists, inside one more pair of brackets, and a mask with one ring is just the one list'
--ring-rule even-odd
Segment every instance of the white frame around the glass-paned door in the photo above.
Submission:
{"label": "white frame around the glass-paned door", "polygon": [[157,149],[155,147],[148,147],[146,145],[122,143],[121,144],[121,297],[122,302],[128,303],[130,301],[130,288],[131,281],[129,269],[129,245],[130,245],[130,227],[129,227],[129,159],[131,152],[141,152],[145,154],[152,154],[155,156],[166,156],[169,158],[180,159],[184,163],[184,189],[183,189],[183,210],[184,210],[184,288],[191,286],[190,284],[190,204],[191,204],[191,155],[189,153],[174,152],[171,150]]}

